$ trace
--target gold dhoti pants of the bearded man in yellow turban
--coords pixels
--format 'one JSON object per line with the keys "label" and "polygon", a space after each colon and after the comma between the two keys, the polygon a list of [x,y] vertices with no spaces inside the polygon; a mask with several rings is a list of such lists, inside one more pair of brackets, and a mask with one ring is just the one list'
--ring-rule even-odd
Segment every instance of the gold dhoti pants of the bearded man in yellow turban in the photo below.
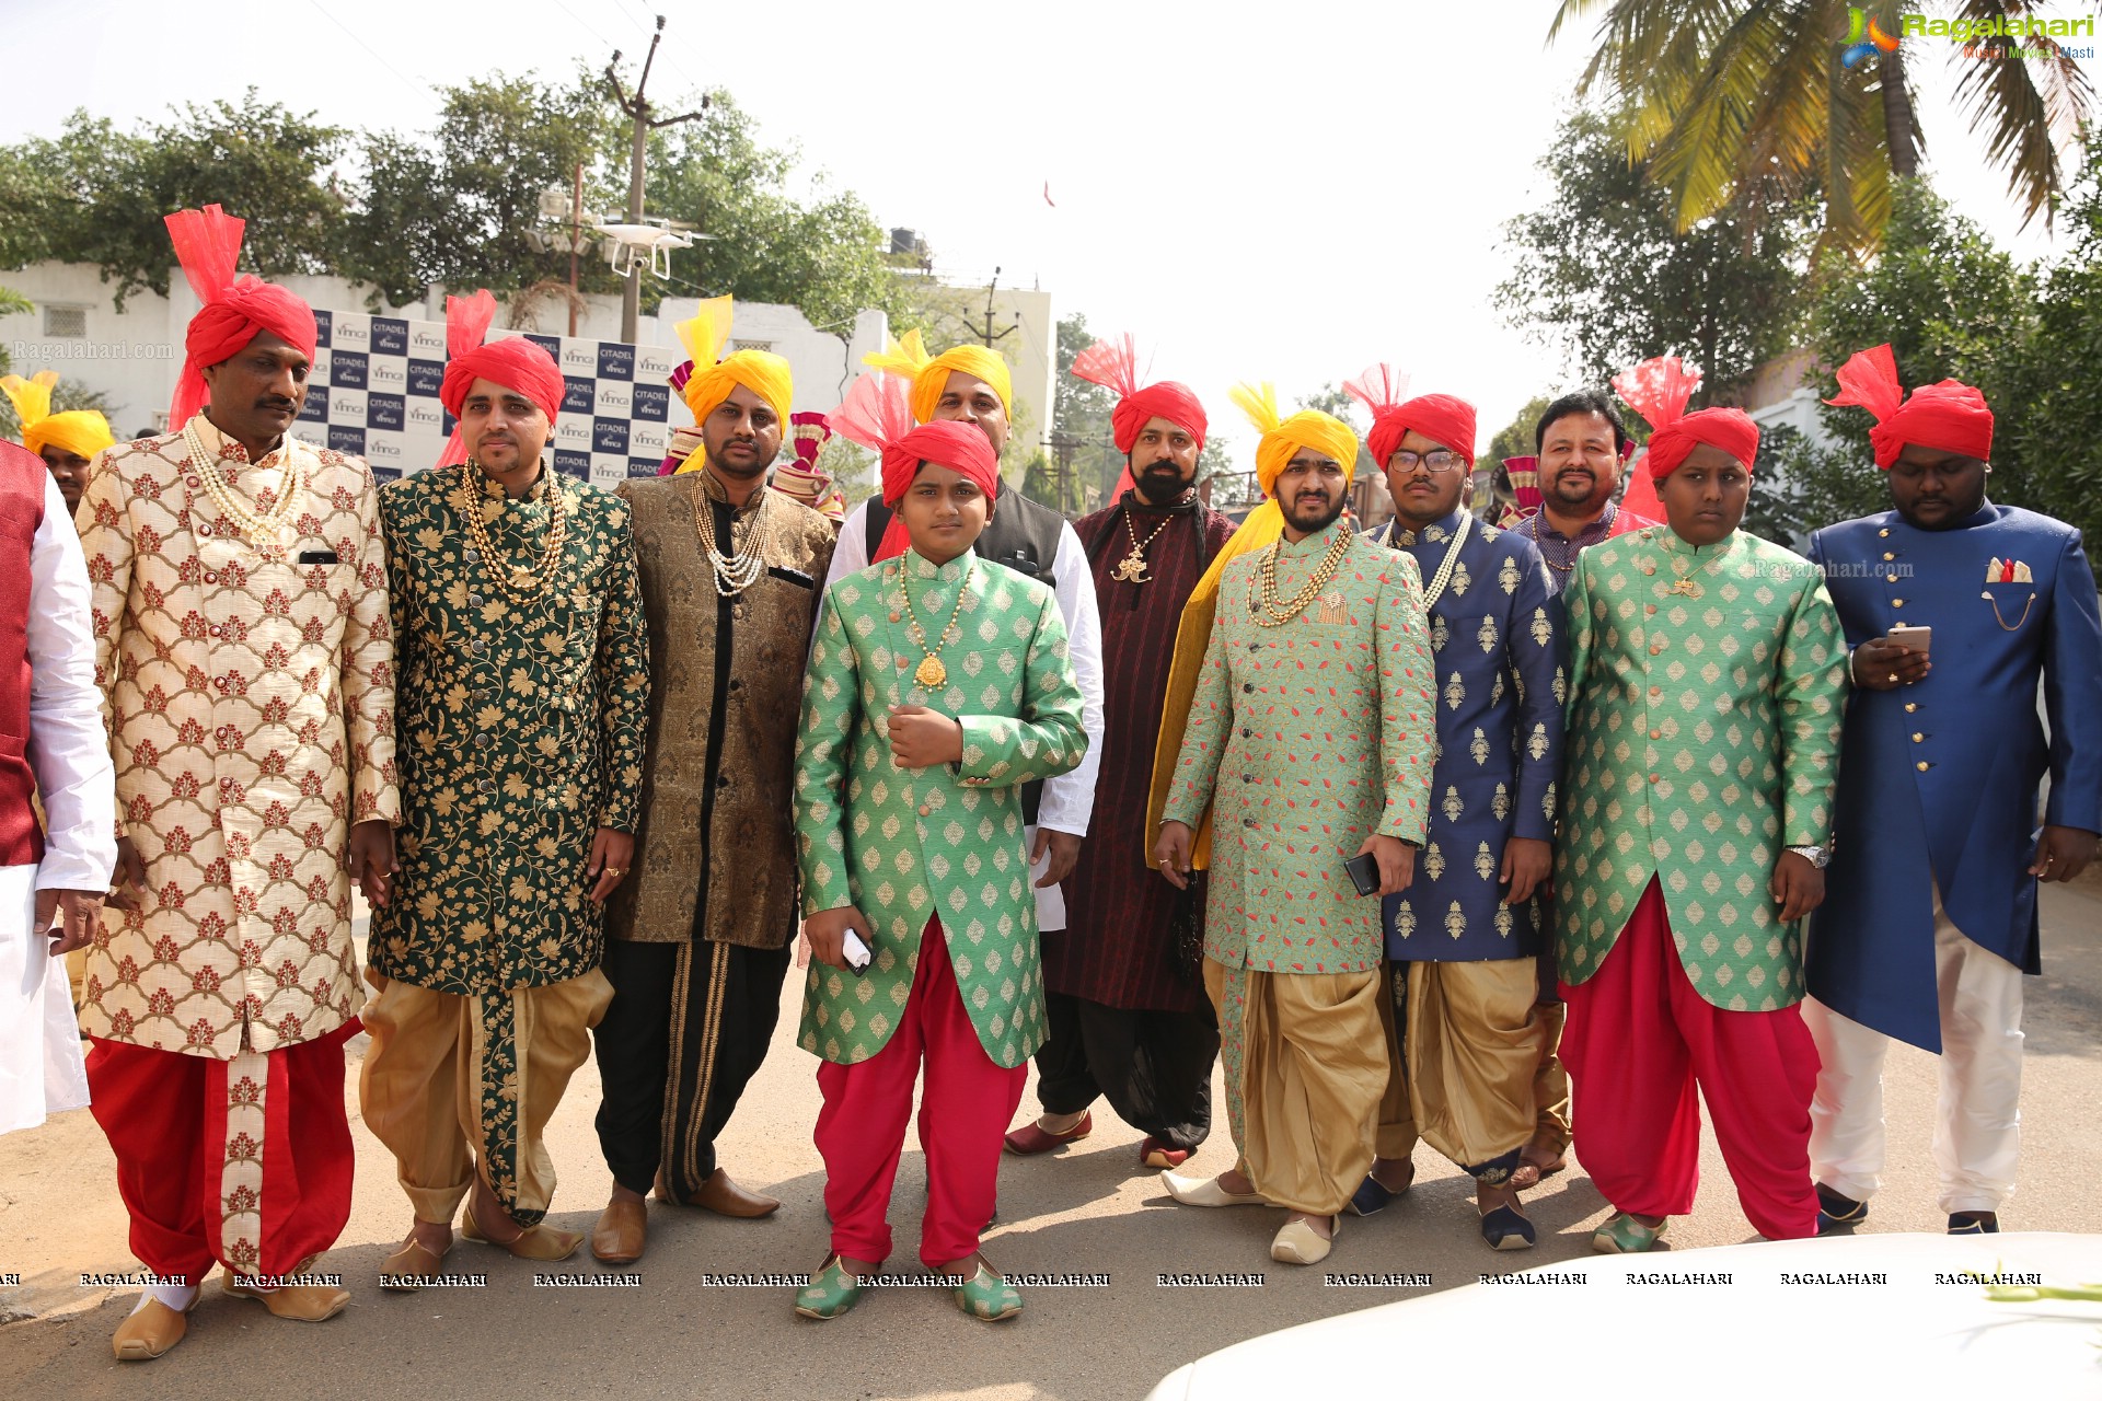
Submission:
{"label": "gold dhoti pants of the bearded man in yellow turban", "polygon": [[1333,1216],[1373,1166],[1387,1088],[1379,973],[1257,973],[1204,960],[1240,1172],[1276,1206]]}

